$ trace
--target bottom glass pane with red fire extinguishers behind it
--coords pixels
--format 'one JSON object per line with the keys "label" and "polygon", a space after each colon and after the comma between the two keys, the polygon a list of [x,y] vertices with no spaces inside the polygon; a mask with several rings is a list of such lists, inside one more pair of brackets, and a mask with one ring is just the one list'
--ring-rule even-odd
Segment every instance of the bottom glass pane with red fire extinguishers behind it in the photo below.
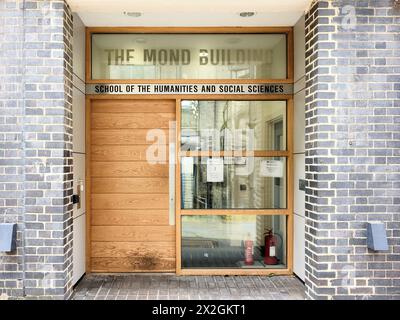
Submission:
{"label": "bottom glass pane with red fire extinguishers behind it", "polygon": [[286,268],[286,216],[182,216],[182,268]]}

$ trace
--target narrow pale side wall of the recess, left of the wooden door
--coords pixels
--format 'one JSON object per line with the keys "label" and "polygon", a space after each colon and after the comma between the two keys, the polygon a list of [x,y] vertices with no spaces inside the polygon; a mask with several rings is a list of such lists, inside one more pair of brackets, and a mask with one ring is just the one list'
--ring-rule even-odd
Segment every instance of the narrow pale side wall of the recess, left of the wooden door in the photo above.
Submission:
{"label": "narrow pale side wall of the recess, left of the wooden door", "polygon": [[85,273],[85,26],[73,14],[73,192],[80,193],[80,208],[73,207],[73,284]]}

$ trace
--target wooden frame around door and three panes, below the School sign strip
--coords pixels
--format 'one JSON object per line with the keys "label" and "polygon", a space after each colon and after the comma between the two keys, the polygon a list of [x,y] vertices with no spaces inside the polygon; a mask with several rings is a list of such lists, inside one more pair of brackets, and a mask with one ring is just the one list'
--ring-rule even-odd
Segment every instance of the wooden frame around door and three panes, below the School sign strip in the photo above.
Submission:
{"label": "wooden frame around door and three panes, below the School sign strip", "polygon": [[[277,95],[87,95],[86,96],[86,119],[85,119],[85,132],[86,132],[86,161],[85,161],[85,176],[86,176],[86,273],[91,273],[91,113],[93,100],[110,100],[110,99],[124,99],[124,100],[175,100],[176,105],[176,136],[175,136],[175,245],[176,245],[176,274],[177,275],[290,275],[293,273],[293,97],[292,96],[277,96]],[[182,215],[199,215],[206,214],[204,211],[198,210],[184,210],[182,214],[181,209],[181,179],[180,179],[180,157],[187,155],[186,152],[180,151],[180,123],[181,123],[181,101],[182,100],[253,100],[253,101],[286,101],[287,115],[287,148],[285,151],[261,151],[256,152],[257,156],[283,156],[287,159],[286,176],[287,176],[287,189],[286,209],[246,209],[246,214],[262,214],[262,215],[283,215],[287,217],[286,232],[287,232],[287,245],[286,257],[287,268],[285,269],[183,269],[181,267],[181,216]],[[207,154],[210,154],[206,152]],[[212,154],[212,153],[211,153]],[[171,155],[170,155],[171,156]],[[243,214],[243,210],[213,210],[213,214]]]}

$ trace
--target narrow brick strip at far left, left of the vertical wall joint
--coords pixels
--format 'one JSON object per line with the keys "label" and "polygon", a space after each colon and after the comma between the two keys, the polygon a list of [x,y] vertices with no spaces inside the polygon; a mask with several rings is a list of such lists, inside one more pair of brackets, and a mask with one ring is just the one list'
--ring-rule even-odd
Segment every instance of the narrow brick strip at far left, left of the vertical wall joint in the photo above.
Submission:
{"label": "narrow brick strip at far left, left of the vertical wall joint", "polygon": [[[22,19],[15,2],[0,2],[0,223],[23,216]],[[23,294],[22,229],[19,224],[17,252],[0,253],[0,298]]]}

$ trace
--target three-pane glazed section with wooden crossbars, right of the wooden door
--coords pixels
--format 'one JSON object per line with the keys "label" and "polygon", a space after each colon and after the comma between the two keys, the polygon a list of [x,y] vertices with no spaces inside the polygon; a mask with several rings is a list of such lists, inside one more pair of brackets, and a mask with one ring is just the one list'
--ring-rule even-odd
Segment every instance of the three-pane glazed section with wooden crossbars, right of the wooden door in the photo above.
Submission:
{"label": "three-pane glazed section with wooden crossbars, right of the wooden door", "polygon": [[288,270],[288,108],[180,102],[178,271]]}

